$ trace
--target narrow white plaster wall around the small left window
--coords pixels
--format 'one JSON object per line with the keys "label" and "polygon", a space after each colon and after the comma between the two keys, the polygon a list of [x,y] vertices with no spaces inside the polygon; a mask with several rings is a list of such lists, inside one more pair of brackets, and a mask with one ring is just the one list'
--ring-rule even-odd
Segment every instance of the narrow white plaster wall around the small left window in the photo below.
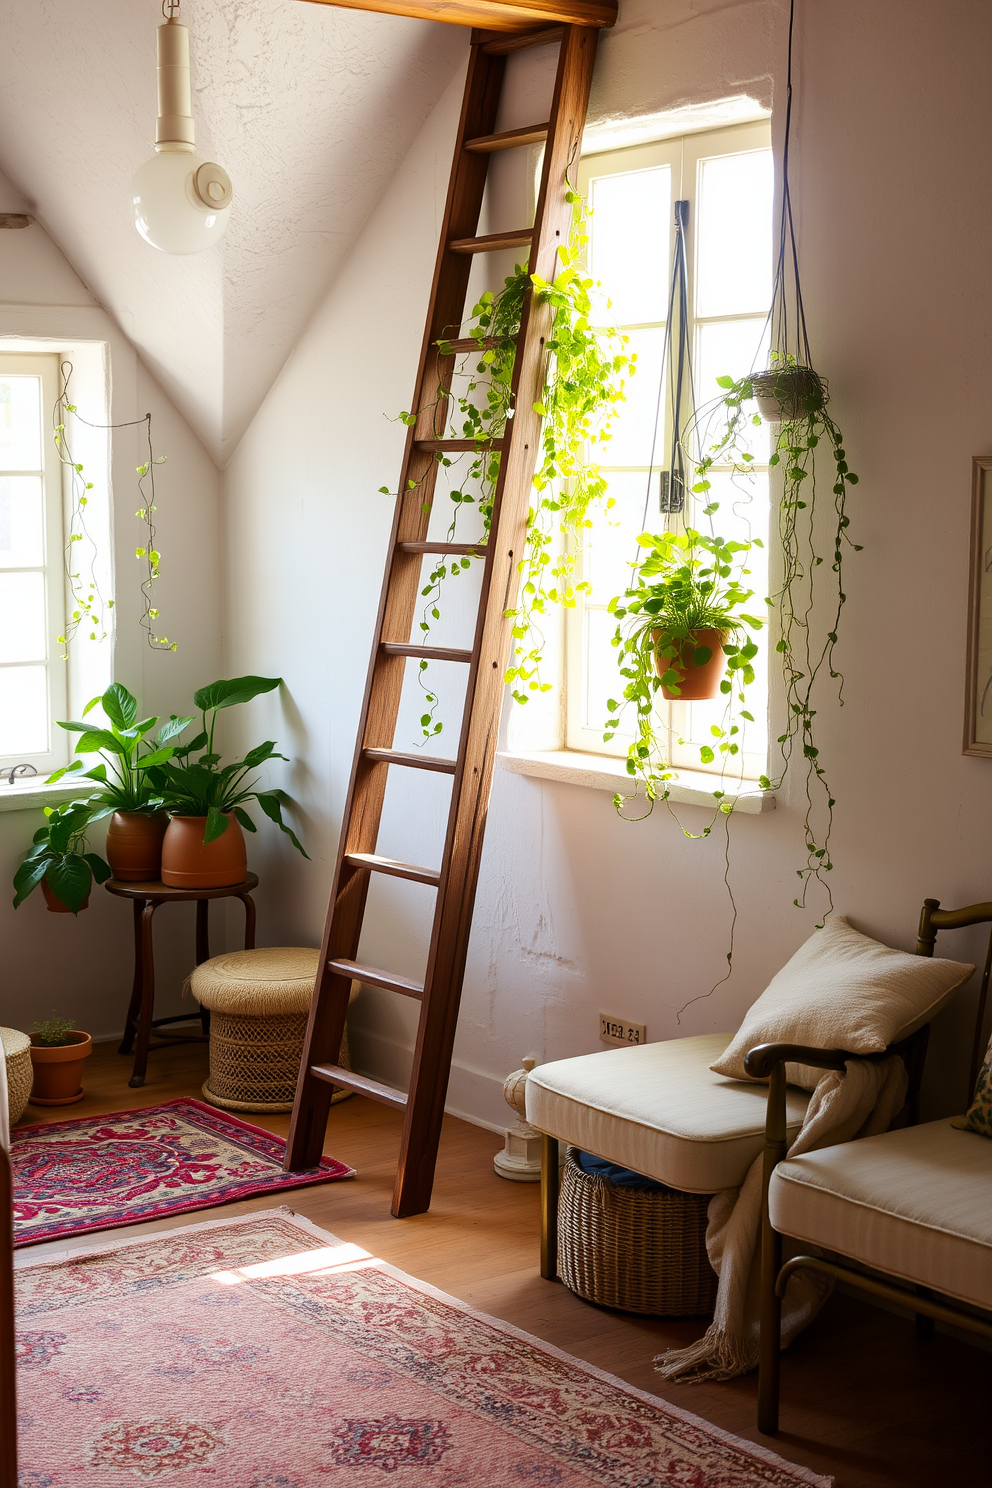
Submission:
{"label": "narrow white plaster wall around the small left window", "polygon": [[[0,210],[24,202],[0,179]],[[33,348],[59,351],[67,344],[109,345],[112,418],[153,415],[156,449],[167,463],[158,478],[158,534],[162,577],[156,603],[162,625],[178,643],[174,653],[152,652],[138,631],[141,542],[134,512],[140,504],[135,466],[143,458],[141,430],[113,439],[113,567],[116,577],[116,677],[143,699],[149,713],[181,711],[192,690],[222,674],[223,551],[220,476],[204,446],[134,348],[119,332],[37,223],[0,231],[0,338],[22,338]],[[86,409],[80,402],[80,414]],[[76,641],[88,647],[86,640]],[[85,699],[83,699],[85,701]],[[7,789],[0,784],[0,790]],[[131,991],[129,905],[103,890],[77,918],[49,914],[40,893],[10,908],[10,878],[42,824],[40,806],[0,812],[0,1022],[30,1030],[58,1009],[94,1037],[123,1027]],[[91,845],[101,848],[97,829]],[[156,1013],[180,1010],[180,985],[192,966],[192,906],[162,911],[158,920],[159,1000]],[[223,920],[217,920],[223,949]],[[126,1067],[125,1067],[126,1068]]]}

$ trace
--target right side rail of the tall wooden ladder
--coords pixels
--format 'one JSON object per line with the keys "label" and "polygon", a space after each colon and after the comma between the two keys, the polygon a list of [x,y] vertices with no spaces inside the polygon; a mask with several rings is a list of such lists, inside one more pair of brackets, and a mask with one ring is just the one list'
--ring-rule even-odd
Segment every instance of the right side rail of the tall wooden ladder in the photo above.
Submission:
{"label": "right side rail of the tall wooden ladder", "polygon": [[[561,46],[531,268],[546,280],[556,272],[558,250],[568,240],[571,205],[565,171],[574,164],[589,101],[596,31],[567,27]],[[474,893],[482,857],[489,789],[510,655],[518,562],[524,554],[541,420],[534,411],[543,388],[550,310],[528,293],[513,372],[509,448],[500,461],[491,536],[486,549],[479,622],[463,714],[458,766],[442,859],[437,909],[424,982],[424,1003],[406,1116],[393,1214],[421,1214],[430,1205],[440,1125],[451,1073],[458,1004],[464,978]]]}

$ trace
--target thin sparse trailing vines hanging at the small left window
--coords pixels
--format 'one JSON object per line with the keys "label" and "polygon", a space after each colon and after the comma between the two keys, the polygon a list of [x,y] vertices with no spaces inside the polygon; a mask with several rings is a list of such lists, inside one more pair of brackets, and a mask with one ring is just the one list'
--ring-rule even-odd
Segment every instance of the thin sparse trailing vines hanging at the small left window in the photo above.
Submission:
{"label": "thin sparse trailing vines hanging at the small left window", "polygon": [[[140,625],[146,631],[152,650],[175,650],[175,643],[168,635],[156,635],[159,612],[152,603],[152,585],[159,577],[161,554],[156,548],[155,534],[155,466],[165,461],[165,455],[156,455],[152,443],[152,415],[129,420],[120,424],[92,424],[83,418],[76,403],[68,400],[68,384],[73,365],[64,360],[59,366],[59,390],[52,414],[54,440],[58,458],[68,476],[68,531],[65,534],[65,582],[68,588],[68,618],[65,632],[58,637],[62,647],[62,661],[68,655],[68,643],[80,629],[88,629],[89,640],[104,640],[107,635],[109,612],[115,609],[115,600],[104,597],[97,579],[97,543],[86,525],[86,509],[89,506],[89,491],[94,482],[86,479],[82,461],[76,460],[70,445],[68,418],[73,415],[88,429],[115,430],[135,429],[144,426],[147,458],[144,464],[135,467],[138,476],[138,496],[141,506],[134,513],[144,522],[144,542],[135,548],[135,558],[146,564],[146,576],[141,580],[143,613]],[[146,490],[147,482],[147,490]]]}

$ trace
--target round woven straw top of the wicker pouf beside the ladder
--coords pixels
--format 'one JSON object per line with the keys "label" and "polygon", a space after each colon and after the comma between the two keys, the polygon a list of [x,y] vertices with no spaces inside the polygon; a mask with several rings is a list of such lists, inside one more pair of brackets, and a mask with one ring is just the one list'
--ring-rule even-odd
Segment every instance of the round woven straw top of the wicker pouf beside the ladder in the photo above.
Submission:
{"label": "round woven straw top of the wicker pouf beside the ladder", "polygon": [[314,997],[320,951],[311,946],[262,946],[231,951],[198,966],[189,990],[213,1012],[242,1018],[306,1013]]}

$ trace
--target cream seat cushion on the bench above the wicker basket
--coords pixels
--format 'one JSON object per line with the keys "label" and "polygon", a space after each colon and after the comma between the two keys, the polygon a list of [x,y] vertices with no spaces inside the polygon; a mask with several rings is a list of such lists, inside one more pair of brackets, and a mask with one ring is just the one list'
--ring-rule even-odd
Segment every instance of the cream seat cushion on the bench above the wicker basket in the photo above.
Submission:
{"label": "cream seat cushion on the bench above the wicker basket", "polygon": [[[708,1033],[540,1064],[526,1080],[526,1119],[674,1189],[736,1187],[764,1141],[767,1092],[712,1073],[729,1040],[729,1033]],[[808,1100],[788,1091],[790,1135]]]}

